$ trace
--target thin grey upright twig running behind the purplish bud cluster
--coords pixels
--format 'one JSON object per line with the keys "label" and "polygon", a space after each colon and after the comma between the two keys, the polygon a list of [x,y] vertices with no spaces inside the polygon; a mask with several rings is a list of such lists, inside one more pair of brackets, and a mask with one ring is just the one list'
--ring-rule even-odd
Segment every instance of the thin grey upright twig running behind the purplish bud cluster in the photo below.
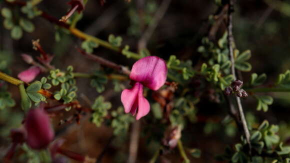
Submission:
{"label": "thin grey upright twig running behind the purplish bud cluster", "polygon": [[[229,0],[229,9],[228,9],[228,24],[227,24],[227,40],[228,40],[228,49],[229,49],[229,56],[230,56],[230,61],[231,61],[231,74],[233,75],[233,78],[236,79],[235,76],[235,69],[234,69],[234,58],[233,58],[233,46],[234,46],[234,40],[233,40],[233,35],[232,35],[232,7],[233,7],[233,0]],[[237,107],[238,107],[238,112],[240,116],[240,120],[242,123],[243,131],[245,134],[246,141],[249,145],[249,148],[251,148],[250,145],[250,134],[249,130],[247,127],[247,123],[243,114],[243,109],[241,105],[240,98],[235,96]]]}

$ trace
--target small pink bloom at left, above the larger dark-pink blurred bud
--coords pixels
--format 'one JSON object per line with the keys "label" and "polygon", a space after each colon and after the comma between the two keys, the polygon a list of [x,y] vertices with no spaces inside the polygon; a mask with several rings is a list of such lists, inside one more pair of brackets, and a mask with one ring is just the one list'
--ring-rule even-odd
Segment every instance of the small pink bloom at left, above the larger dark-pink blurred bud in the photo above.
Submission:
{"label": "small pink bloom at left, above the larger dark-pink blurred bud", "polygon": [[37,66],[31,66],[26,70],[23,70],[18,74],[18,78],[24,82],[32,81],[40,73],[40,68]]}

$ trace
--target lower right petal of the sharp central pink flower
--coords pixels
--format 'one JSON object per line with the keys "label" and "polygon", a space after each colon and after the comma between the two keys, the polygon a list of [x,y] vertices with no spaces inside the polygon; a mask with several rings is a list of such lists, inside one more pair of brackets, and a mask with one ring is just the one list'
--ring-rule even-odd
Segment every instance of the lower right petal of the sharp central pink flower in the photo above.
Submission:
{"label": "lower right petal of the sharp central pink flower", "polygon": [[148,100],[143,96],[143,87],[138,92],[138,112],[136,119],[139,120],[142,116],[147,115],[150,110],[150,104]]}

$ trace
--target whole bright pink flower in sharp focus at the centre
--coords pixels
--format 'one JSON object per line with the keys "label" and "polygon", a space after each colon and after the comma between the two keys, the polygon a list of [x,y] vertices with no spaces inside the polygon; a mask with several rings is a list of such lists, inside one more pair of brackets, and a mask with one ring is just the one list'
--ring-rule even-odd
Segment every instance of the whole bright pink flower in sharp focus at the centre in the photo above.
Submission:
{"label": "whole bright pink flower in sharp focus at the centre", "polygon": [[157,56],[146,56],[136,61],[130,73],[130,79],[135,81],[130,89],[124,89],[121,93],[121,102],[125,112],[134,115],[136,119],[145,116],[150,105],[143,96],[143,86],[152,90],[159,89],[166,81],[167,66],[163,59]]}

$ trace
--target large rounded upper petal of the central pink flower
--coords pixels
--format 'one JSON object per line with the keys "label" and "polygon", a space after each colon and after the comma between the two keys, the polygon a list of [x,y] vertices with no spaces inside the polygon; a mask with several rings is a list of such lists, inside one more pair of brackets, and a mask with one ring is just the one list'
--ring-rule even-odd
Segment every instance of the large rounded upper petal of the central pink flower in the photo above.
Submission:
{"label": "large rounded upper petal of the central pink flower", "polygon": [[146,56],[136,61],[130,73],[130,79],[157,90],[166,81],[166,62],[158,56]]}

